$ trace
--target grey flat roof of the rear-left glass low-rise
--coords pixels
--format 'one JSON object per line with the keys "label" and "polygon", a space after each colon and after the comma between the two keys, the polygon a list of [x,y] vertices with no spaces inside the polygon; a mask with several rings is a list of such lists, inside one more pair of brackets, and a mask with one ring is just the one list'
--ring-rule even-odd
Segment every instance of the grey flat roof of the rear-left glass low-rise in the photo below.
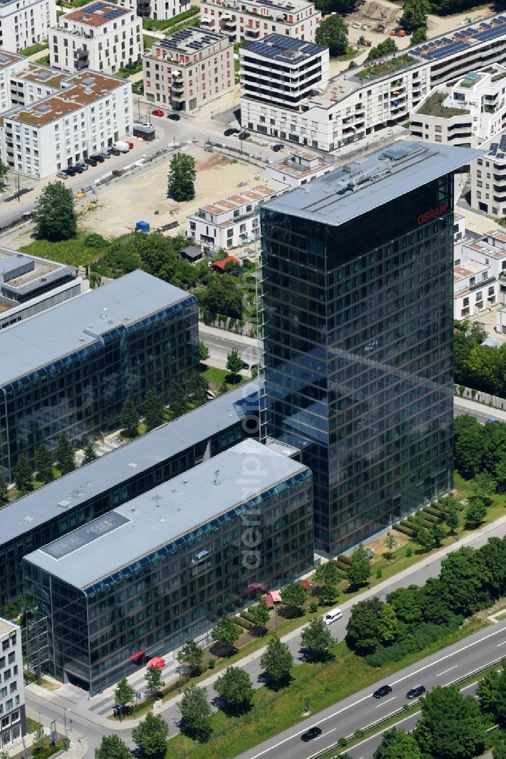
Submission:
{"label": "grey flat roof of the rear-left glass low-rise", "polygon": [[191,297],[139,269],[57,304],[0,334],[0,387],[90,345],[116,326]]}

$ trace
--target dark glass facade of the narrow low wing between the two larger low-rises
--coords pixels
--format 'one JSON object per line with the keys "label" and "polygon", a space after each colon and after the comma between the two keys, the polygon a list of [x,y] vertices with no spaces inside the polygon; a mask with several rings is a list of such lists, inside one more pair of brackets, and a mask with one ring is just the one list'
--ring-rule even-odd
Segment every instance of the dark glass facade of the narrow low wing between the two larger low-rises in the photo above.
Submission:
{"label": "dark glass facade of the narrow low wing between the two larger low-rises", "polygon": [[[199,414],[199,410],[193,411]],[[178,420],[173,424],[180,424]],[[156,434],[156,433],[152,433]],[[73,505],[62,511],[57,516],[48,519],[44,524],[38,525],[30,531],[24,531],[15,540],[0,542],[0,606],[8,601],[16,600],[23,595],[23,556],[35,551],[52,540],[75,530],[81,524],[86,524],[103,514],[111,512],[116,506],[146,493],[156,485],[171,480],[172,477],[191,469],[203,460],[205,455],[215,456],[222,451],[235,446],[245,437],[258,436],[258,424],[254,414],[253,401],[244,420],[234,420],[233,424],[223,427],[219,432],[206,437],[203,429],[203,438],[197,445],[183,448],[176,455],[171,455],[165,461],[157,461],[148,468],[140,468],[128,479],[115,483],[92,498],[83,499],[77,505]],[[132,452],[134,455],[134,451]],[[135,458],[135,457],[134,457]],[[86,477],[92,476],[93,465],[86,469]],[[113,467],[113,464],[112,464]],[[46,488],[51,488],[51,484]],[[35,494],[27,496],[33,498]],[[30,509],[27,506],[27,513]],[[1,519],[1,518],[0,518]],[[0,531],[0,540],[2,534]]]}

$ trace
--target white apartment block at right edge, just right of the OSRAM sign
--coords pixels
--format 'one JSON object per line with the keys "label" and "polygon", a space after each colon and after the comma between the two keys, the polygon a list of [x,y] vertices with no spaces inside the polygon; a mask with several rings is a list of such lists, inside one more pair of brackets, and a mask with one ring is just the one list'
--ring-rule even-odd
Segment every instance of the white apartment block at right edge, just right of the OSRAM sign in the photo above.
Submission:
{"label": "white apartment block at right edge, just right of the OSRAM sign", "polygon": [[506,131],[482,144],[487,153],[471,163],[471,207],[506,216]]}

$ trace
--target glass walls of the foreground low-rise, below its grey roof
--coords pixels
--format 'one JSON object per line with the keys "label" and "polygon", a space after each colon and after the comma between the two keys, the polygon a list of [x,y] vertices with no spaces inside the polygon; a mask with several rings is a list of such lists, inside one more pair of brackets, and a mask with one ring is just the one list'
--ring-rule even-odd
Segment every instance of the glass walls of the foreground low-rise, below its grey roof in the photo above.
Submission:
{"label": "glass walls of the foreground low-rise, below its grey roof", "polygon": [[52,619],[52,675],[94,695],[133,672],[139,651],[163,655],[312,565],[303,468],[83,590],[28,559],[24,570],[34,606]]}

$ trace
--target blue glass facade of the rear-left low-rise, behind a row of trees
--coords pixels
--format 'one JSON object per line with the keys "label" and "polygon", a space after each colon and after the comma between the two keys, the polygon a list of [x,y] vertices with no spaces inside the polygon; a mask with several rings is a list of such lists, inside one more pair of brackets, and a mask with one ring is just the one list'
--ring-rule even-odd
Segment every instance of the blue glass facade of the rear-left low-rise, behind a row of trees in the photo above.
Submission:
{"label": "blue glass facade of the rear-left low-rise, behind a row of trees", "polygon": [[11,480],[21,452],[54,449],[63,432],[79,448],[118,429],[127,399],[142,408],[149,388],[166,400],[171,383],[199,368],[196,298],[189,295],[118,324],[96,342],[0,387],[0,471]]}

